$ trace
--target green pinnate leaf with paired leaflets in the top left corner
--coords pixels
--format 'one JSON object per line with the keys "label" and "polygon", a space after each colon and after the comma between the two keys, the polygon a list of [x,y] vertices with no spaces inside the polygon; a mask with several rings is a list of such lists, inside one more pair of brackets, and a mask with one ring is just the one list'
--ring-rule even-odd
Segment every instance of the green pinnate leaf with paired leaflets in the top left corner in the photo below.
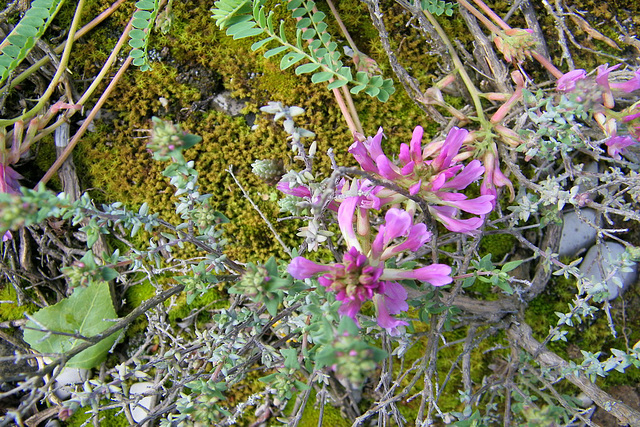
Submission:
{"label": "green pinnate leaf with paired leaflets in the top left corner", "polygon": [[34,0],[18,25],[0,43],[0,84],[27,57],[64,0]]}

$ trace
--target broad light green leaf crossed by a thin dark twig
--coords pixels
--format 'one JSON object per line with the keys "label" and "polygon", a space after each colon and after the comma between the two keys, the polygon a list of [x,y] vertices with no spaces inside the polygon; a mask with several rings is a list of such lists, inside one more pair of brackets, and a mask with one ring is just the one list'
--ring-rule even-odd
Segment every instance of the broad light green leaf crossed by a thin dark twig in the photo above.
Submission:
{"label": "broad light green leaf crossed by a thin dark twig", "polygon": [[[113,309],[109,285],[106,282],[94,282],[86,288],[77,287],[73,294],[59,303],[34,313],[32,317],[50,331],[79,334],[92,337],[113,326],[118,316]],[[27,322],[28,328],[40,329],[33,321]],[[91,369],[100,365],[116,342],[119,334],[100,341],[92,347],[72,357],[67,366]],[[25,329],[24,340],[40,353],[64,354],[85,341],[68,335],[56,335],[34,329]]]}

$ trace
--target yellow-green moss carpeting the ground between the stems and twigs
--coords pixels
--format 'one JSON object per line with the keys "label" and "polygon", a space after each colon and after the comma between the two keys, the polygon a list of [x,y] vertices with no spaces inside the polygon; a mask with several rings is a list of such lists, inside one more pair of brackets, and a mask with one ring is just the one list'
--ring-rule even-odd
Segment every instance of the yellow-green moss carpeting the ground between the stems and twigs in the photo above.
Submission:
{"label": "yellow-green moss carpeting the ground between the stems and twigs", "polygon": [[[357,1],[336,3],[358,47],[376,59],[385,75],[390,76],[390,66],[383,59],[384,51],[377,40],[377,31],[370,24],[366,5]],[[510,3],[495,2],[490,5],[504,13],[511,7]],[[110,4],[110,0],[87,1],[83,14],[84,22]],[[611,18],[612,12],[608,4],[596,4],[593,1],[573,4],[575,7],[589,8],[596,17]],[[150,72],[130,70],[117,86],[105,105],[101,118],[95,123],[95,131],[85,135],[74,153],[78,174],[83,186],[92,189],[92,195],[98,201],[123,201],[132,209],[137,209],[142,203],[147,202],[152,212],[159,212],[165,219],[177,222],[173,190],[168,185],[168,180],[161,176],[166,165],[151,159],[145,148],[146,133],[143,130],[150,127],[152,115],[179,121],[185,130],[203,137],[202,143],[189,150],[186,156],[196,163],[196,169],[200,172],[202,192],[213,194],[212,200],[216,209],[231,219],[225,226],[230,241],[226,250],[229,257],[240,261],[264,261],[270,255],[284,257],[284,252],[269,229],[226,172],[230,165],[234,166],[235,173],[248,189],[251,198],[276,225],[285,242],[290,246],[296,246],[299,239],[295,233],[301,224],[276,222],[279,215],[277,206],[269,201],[269,196],[276,190],[260,182],[250,172],[251,163],[263,158],[281,158],[287,166],[295,166],[281,125],[271,122],[269,117],[260,115],[259,107],[268,101],[280,101],[285,105],[305,108],[306,113],[299,117],[297,124],[318,136],[319,174],[330,172],[329,160],[321,154],[330,147],[335,150],[338,163],[354,164],[346,150],[352,141],[331,93],[326,91],[323,85],[313,85],[307,77],[295,76],[292,70],[281,71],[277,61],[264,59],[260,52],[252,52],[249,49],[251,40],[232,41],[226,37],[210,18],[211,5],[212,2],[204,0],[174,2],[175,18],[171,31],[166,35],[154,34],[151,38],[150,51],[159,60],[153,62],[153,70]],[[62,28],[68,26],[73,7],[73,2],[68,2],[58,16],[56,25]],[[76,43],[70,63],[74,75],[94,75],[101,67],[124,28],[132,7],[132,4],[126,3],[112,18]],[[638,12],[638,4],[634,1],[621,3],[620,7]],[[422,88],[426,89],[438,75],[440,58],[428,54],[428,46],[419,33],[411,26],[405,25],[406,17],[399,7],[395,6],[393,10],[395,13],[385,15],[388,28],[392,32],[392,45],[397,49],[403,65],[419,79]],[[637,20],[637,13],[632,16]],[[451,19],[442,17],[439,20],[445,31],[455,35],[458,41],[470,48],[470,34],[464,29],[462,18],[458,14]],[[510,23],[517,26],[513,22]],[[551,19],[545,18],[542,25],[550,40],[557,37]],[[612,33],[615,31],[613,28],[598,29],[611,38],[615,36]],[[337,34],[334,24],[331,30]],[[610,49],[598,40],[587,39],[587,44],[597,49]],[[557,45],[552,45],[551,53],[556,59],[559,58],[560,51]],[[574,58],[576,66],[586,69],[602,62],[601,58],[582,52],[576,53]],[[244,114],[258,114],[257,130],[251,130],[245,117],[232,118],[209,108],[208,100],[222,88],[231,90],[234,96],[246,100]],[[423,112],[408,98],[397,82],[396,88],[396,93],[386,104],[381,104],[366,95],[354,98],[365,132],[372,135],[379,126],[383,126],[388,137],[385,141],[386,148],[392,152],[397,152],[400,142],[410,139],[413,127],[418,124],[425,127],[429,133],[435,133],[437,130],[434,122],[425,118]],[[168,104],[164,106],[160,98],[166,99]],[[466,103],[463,98],[448,97],[448,100],[457,107]],[[39,151],[38,167],[44,170],[52,160],[51,147],[43,143]],[[134,242],[144,244],[146,238],[148,236],[141,235]],[[483,254],[492,253],[493,260],[498,261],[510,251],[513,244],[509,236],[490,236],[483,240],[480,250]],[[491,289],[488,288],[474,287],[474,291],[484,294],[488,299],[493,298],[490,295]],[[129,307],[140,304],[153,295],[154,291],[149,284],[130,288],[126,294]],[[575,284],[554,279],[545,293],[532,302],[526,318],[534,325],[537,337],[546,335],[549,327],[557,320],[554,313],[566,311],[566,304],[571,301],[574,293]],[[1,300],[11,298],[15,298],[15,295],[11,295],[11,287],[5,286],[0,290]],[[190,307],[179,300],[177,309],[172,311],[171,320],[183,318],[195,306],[202,307],[223,299],[224,293],[216,289],[197,299],[195,305]],[[634,295],[631,302],[637,303],[637,299],[637,295]],[[3,304],[2,310],[0,319],[9,320],[21,317],[23,308]],[[633,331],[640,330],[640,318],[634,316],[634,313],[625,310],[624,307],[614,307],[613,313],[616,324],[625,325]],[[640,310],[635,313],[640,313]],[[134,325],[133,330],[140,332],[143,327],[144,322]],[[625,339],[630,345],[640,339],[635,332],[626,337],[620,334],[617,340],[606,338],[610,336],[607,329],[606,318],[601,316],[592,324],[572,332],[569,336],[571,345],[607,351],[610,347],[624,348]],[[460,328],[448,333],[448,339],[455,340],[456,337],[463,337],[464,333],[465,328]],[[495,342],[503,339],[504,337],[498,335]],[[492,340],[494,338],[485,341],[487,346],[494,344]],[[408,360],[415,360],[421,355],[419,347],[410,350]],[[566,344],[551,343],[550,347],[563,357],[573,357],[571,349]],[[457,345],[442,350],[440,375],[446,375],[446,365],[456,359],[461,348],[461,345]],[[483,376],[490,375],[487,366],[491,360],[488,359],[490,356],[482,355],[484,350],[484,347],[478,349],[473,357],[472,375],[478,384]],[[494,354],[491,357],[499,356],[500,354]],[[637,377],[636,373],[613,374],[607,378],[606,384],[634,383],[638,381]],[[450,381],[450,384],[459,383],[458,377],[453,377]],[[459,407],[457,396],[446,395],[446,390],[444,395],[443,407],[449,410]],[[407,408],[408,412],[415,409],[411,405]],[[318,415],[317,411],[314,411],[315,409],[309,410],[301,425],[316,425]],[[337,411],[332,412],[329,408],[325,411],[325,423],[343,425],[344,420],[334,412]]]}

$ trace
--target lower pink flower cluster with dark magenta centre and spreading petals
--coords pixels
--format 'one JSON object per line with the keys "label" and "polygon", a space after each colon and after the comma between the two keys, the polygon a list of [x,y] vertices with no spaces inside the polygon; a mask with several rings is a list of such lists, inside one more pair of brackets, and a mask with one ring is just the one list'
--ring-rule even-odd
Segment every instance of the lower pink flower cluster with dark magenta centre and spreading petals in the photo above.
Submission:
{"label": "lower pink flower cluster with dark magenta centre and spreading petals", "polygon": [[416,251],[431,239],[424,224],[413,224],[412,215],[398,208],[391,208],[385,215],[385,223],[379,227],[370,250],[363,253],[362,245],[353,232],[353,214],[358,199],[345,200],[338,211],[340,229],[346,232],[349,249],[341,263],[318,264],[304,257],[296,257],[288,271],[296,279],[319,276],[318,282],[342,301],[339,313],[357,322],[356,315],[362,304],[373,301],[378,325],[391,335],[399,334],[398,327],[408,323],[394,318],[408,309],[407,291],[398,280],[413,279],[433,286],[451,283],[451,267],[432,264],[413,270],[386,268],[384,261],[403,251]]}

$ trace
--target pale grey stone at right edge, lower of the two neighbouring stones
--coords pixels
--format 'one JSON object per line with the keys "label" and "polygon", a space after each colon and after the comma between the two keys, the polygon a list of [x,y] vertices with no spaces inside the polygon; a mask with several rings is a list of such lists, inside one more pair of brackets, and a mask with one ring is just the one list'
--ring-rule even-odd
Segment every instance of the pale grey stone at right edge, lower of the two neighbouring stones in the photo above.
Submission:
{"label": "pale grey stone at right edge, lower of the two neighbouring stones", "polygon": [[[637,264],[632,263],[632,266],[628,268],[630,271],[624,271],[627,268],[618,267],[624,252],[625,247],[620,243],[607,242],[595,245],[589,249],[580,264],[580,272],[589,280],[590,283],[587,283],[587,286],[591,286],[592,288],[597,287],[599,283],[602,283],[606,277],[610,276],[614,270],[616,270],[615,274],[606,282],[609,301],[616,299],[618,295],[622,294],[636,279]],[[604,273],[604,277],[602,273]],[[616,278],[622,283],[622,288],[616,285]],[[597,289],[591,290],[597,291]]]}

